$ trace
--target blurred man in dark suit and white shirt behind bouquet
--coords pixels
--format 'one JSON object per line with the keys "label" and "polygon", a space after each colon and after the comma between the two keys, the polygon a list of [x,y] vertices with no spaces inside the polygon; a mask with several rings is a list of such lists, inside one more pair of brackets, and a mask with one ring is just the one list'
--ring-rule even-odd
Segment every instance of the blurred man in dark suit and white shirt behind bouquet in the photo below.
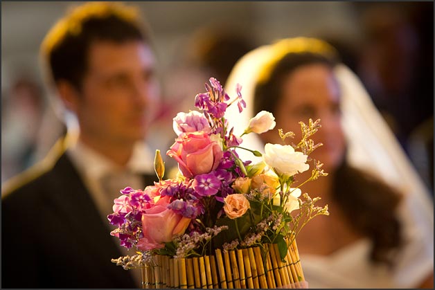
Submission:
{"label": "blurred man in dark suit and white shirt behind bouquet", "polygon": [[86,3],[48,32],[42,56],[79,132],[3,186],[1,286],[137,287],[111,262],[125,252],[107,215],[119,190],[155,179],[141,143],[159,95],[149,35],[133,8]]}

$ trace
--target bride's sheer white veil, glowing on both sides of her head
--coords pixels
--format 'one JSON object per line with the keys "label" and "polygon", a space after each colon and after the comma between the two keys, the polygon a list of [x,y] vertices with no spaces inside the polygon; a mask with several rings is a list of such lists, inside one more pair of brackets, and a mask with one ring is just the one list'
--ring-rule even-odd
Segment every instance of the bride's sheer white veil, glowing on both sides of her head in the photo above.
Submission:
{"label": "bride's sheer white veil, glowing on both sides of her head", "polygon": [[[297,52],[301,49],[295,43],[305,41],[310,42],[312,39],[298,37],[283,39],[280,42],[281,46],[288,46],[287,52]],[[233,96],[236,92],[236,84],[242,85],[242,96],[247,103],[247,108],[239,114],[237,106],[231,106],[226,114],[238,135],[247,127],[249,118],[253,117],[254,85],[260,78],[263,67],[277,57],[276,48],[273,48],[276,44],[260,46],[242,57],[234,66],[224,86],[227,93]],[[409,233],[421,235],[418,247],[424,248],[422,255],[430,257],[429,261],[425,261],[427,267],[431,261],[433,267],[434,209],[429,190],[414,170],[357,76],[344,64],[335,67],[335,75],[341,87],[342,126],[348,142],[349,163],[372,172],[405,194],[405,203],[401,208],[402,221],[405,222],[405,228],[409,229],[407,230]],[[242,145],[264,152],[264,145],[256,134],[244,136]],[[245,150],[238,150],[238,154],[244,160],[254,160],[254,156]],[[416,261],[416,264],[418,262],[421,261]],[[420,266],[417,268],[421,269]]]}

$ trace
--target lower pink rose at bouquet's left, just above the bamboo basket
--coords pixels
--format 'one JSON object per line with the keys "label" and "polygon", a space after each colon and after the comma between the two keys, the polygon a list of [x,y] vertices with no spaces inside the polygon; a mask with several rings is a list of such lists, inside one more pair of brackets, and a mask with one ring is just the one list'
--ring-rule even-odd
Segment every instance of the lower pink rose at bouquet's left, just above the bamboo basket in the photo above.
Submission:
{"label": "lower pink rose at bouquet's left, just above the bamboo basket", "polygon": [[168,209],[169,197],[161,197],[155,205],[142,215],[143,238],[136,247],[142,251],[163,248],[177,235],[182,235],[190,219]]}

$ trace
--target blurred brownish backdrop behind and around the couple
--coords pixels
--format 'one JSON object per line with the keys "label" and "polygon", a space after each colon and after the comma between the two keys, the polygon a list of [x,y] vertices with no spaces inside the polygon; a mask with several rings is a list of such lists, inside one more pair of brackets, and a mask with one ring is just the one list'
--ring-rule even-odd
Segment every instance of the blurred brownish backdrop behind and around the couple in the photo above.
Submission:
{"label": "blurred brownish backdrop behind and around the couple", "polygon": [[[1,2],[1,182],[41,160],[64,133],[44,83],[39,44],[78,2]],[[427,186],[434,182],[433,2],[125,2],[152,30],[162,104],[150,142],[173,141],[172,118],[214,76],[224,84],[238,58],[275,39],[321,37],[334,45],[380,109]],[[168,134],[162,134],[167,132]],[[153,135],[151,135],[153,136]],[[160,138],[159,138],[160,136]],[[154,149],[153,148],[153,149]]]}

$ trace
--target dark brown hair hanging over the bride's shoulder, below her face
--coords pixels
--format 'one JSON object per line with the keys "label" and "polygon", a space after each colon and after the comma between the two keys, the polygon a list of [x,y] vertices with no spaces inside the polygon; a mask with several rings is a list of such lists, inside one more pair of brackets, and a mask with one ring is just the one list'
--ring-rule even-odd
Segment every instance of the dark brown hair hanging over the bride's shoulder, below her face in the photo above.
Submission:
{"label": "dark brown hair hanging over the bride's shoulder, below her face", "polygon": [[346,163],[334,176],[332,198],[355,229],[373,242],[371,260],[391,264],[393,252],[402,243],[400,222],[395,215],[401,195],[372,174]]}

